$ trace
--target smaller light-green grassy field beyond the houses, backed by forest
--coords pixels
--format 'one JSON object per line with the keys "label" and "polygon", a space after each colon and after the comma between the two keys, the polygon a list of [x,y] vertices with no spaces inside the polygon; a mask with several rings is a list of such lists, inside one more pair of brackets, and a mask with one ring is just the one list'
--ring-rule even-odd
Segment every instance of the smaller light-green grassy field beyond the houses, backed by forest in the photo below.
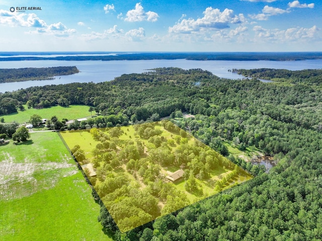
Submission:
{"label": "smaller light-green grassy field beyond the houses, backed by forest", "polygon": [[34,114],[40,115],[44,119],[50,119],[50,117],[55,115],[59,120],[62,118],[73,120],[90,116],[89,107],[84,105],[70,105],[69,107],[53,106],[44,109],[28,109],[25,105],[25,110],[19,110],[18,113],[9,115],[0,115],[0,118],[5,118],[5,123],[16,121],[22,124],[28,122],[30,116]]}

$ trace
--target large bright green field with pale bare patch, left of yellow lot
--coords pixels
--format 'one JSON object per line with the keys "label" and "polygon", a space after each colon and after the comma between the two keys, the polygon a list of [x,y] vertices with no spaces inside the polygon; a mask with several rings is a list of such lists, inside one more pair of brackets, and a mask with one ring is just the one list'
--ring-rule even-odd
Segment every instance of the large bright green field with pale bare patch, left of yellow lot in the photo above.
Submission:
{"label": "large bright green field with pale bare patch, left of yellow lot", "polygon": [[112,240],[99,205],[57,133],[0,146],[2,240]]}

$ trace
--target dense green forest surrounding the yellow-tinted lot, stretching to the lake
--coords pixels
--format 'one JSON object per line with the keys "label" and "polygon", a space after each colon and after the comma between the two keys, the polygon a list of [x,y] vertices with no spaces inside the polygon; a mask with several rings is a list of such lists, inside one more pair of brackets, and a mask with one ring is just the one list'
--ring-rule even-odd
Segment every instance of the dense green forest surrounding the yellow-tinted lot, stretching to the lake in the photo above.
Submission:
{"label": "dense green forest surrounding the yellow-tinted lot, stretching to the lake", "polygon": [[[256,78],[222,79],[201,69],[160,68],[99,84],[5,93],[0,106],[3,111],[8,103],[43,108],[45,102],[52,106],[65,98],[101,114],[95,118],[101,121],[87,123],[90,126],[104,126],[103,120],[112,116],[139,123],[187,112],[195,118],[180,121],[181,128],[241,167],[253,169],[253,180],[126,233],[102,206],[99,220],[116,240],[322,240],[322,93],[311,80],[277,85]],[[114,124],[122,124],[119,120]],[[258,148],[277,165],[268,174],[256,172],[256,167],[229,155],[223,140],[240,149]]]}

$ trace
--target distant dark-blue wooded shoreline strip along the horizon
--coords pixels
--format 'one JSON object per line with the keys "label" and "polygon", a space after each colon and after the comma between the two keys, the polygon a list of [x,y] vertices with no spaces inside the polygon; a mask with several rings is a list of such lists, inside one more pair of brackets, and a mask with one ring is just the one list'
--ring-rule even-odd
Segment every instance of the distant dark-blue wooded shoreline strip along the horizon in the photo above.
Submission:
{"label": "distant dark-blue wooded shoreline strip along the horizon", "polygon": [[322,59],[322,52],[0,52],[0,61],[111,61],[153,59],[187,59],[200,61],[296,61],[306,59]]}

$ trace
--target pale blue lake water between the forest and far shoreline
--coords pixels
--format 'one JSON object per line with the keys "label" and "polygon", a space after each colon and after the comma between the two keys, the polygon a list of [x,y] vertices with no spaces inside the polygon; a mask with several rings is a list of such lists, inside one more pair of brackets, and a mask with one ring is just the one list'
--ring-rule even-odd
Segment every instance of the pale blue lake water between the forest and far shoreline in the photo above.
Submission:
{"label": "pale blue lake water between the forest and far shoreline", "polygon": [[47,81],[26,81],[0,84],[0,92],[15,91],[32,86],[59,85],[74,82],[105,82],[111,81],[122,74],[142,73],[147,69],[156,67],[180,67],[183,69],[201,68],[213,74],[230,79],[243,78],[236,73],[228,72],[228,69],[252,69],[252,68],[282,68],[289,70],[301,70],[322,68],[322,59],[300,61],[229,61],[229,60],[186,60],[186,59],[161,59],[161,60],[113,60],[113,61],[63,61],[63,60],[25,60],[25,61],[1,61],[0,68],[26,68],[26,67],[55,67],[76,66],[79,73],[65,76],[56,76]]}

